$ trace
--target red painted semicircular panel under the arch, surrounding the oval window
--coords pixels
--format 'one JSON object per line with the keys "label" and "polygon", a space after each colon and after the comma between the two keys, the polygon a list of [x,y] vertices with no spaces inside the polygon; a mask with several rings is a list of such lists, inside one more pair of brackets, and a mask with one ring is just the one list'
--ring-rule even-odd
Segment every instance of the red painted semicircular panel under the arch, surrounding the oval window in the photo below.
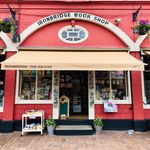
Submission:
{"label": "red painted semicircular panel under the arch, surrounding the oval window", "polygon": [[[126,48],[127,46],[117,38],[116,35],[111,33],[109,30],[98,26],[96,24],[86,21],[76,21],[76,25],[87,29],[89,36],[88,38],[78,44],[66,44],[58,38],[58,31],[71,25],[71,21],[61,21],[53,24],[49,24],[46,27],[36,31],[29,36],[21,46],[43,46],[43,47],[95,47],[95,48]],[[45,38],[44,38],[45,37]],[[94,40],[93,40],[94,39]],[[107,40],[103,40],[107,39]],[[40,41],[40,42],[37,42]],[[110,44],[111,41],[111,44]]]}

